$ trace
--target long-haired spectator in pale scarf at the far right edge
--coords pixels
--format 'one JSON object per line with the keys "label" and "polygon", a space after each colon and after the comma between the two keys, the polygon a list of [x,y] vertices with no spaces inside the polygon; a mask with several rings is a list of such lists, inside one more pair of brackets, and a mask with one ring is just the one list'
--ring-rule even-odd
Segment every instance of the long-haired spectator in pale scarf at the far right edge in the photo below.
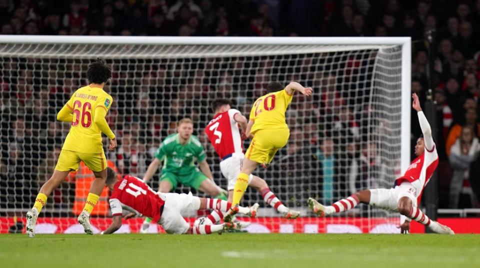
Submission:
{"label": "long-haired spectator in pale scarf at the far right edge", "polygon": [[468,179],[470,163],[478,157],[478,152],[480,152],[478,138],[474,136],[471,126],[464,125],[460,136],[450,150],[449,159],[453,168],[453,175],[450,182],[449,208],[458,208],[463,180]]}

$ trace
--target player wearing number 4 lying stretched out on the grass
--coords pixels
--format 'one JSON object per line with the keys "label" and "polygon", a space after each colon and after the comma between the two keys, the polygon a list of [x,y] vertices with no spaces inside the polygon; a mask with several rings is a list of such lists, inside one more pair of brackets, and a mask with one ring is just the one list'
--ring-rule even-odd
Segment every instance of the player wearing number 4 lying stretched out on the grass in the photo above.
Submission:
{"label": "player wearing number 4 lying stretched out on the grass", "polygon": [[[122,208],[130,213],[127,216],[142,214],[158,222],[167,233],[208,234],[221,232],[225,229],[238,229],[237,223],[198,224],[190,226],[181,213],[196,212],[199,209],[215,209],[226,212],[231,204],[216,198],[200,198],[191,193],[161,193],[153,191],[140,178],[125,175],[118,179],[115,171],[108,168],[106,179],[110,195],[110,209],[113,217],[110,226],[101,233],[107,234],[116,231],[121,226]],[[238,207],[240,213],[251,217],[256,215],[258,204],[251,207]],[[207,222],[207,220],[205,220]],[[205,223],[203,222],[203,223]]]}

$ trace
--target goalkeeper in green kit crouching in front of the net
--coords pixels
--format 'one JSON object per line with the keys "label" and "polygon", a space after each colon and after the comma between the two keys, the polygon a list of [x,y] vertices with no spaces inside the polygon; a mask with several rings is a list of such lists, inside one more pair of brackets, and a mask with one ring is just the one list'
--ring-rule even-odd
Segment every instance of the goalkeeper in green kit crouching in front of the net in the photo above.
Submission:
{"label": "goalkeeper in green kit crouching in front of the net", "polygon": [[[160,162],[163,161],[158,191],[169,192],[175,189],[178,183],[181,183],[215,196],[215,198],[226,200],[226,191],[213,181],[203,146],[192,133],[193,121],[190,118],[178,121],[177,133],[167,136],[161,142],[155,158],[143,176],[143,181],[146,183],[150,180]],[[199,169],[195,166],[195,159]],[[150,221],[150,218],[145,218],[140,229],[141,232],[148,230]]]}

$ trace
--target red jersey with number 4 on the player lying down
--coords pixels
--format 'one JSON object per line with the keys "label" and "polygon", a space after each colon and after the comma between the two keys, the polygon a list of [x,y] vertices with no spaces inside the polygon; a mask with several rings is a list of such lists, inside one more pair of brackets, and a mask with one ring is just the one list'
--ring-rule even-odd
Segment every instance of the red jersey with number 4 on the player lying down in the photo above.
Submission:
{"label": "red jersey with number 4 on the player lying down", "polygon": [[126,175],[115,183],[109,202],[112,216],[121,215],[124,207],[158,222],[161,216],[160,209],[165,200],[140,178]]}

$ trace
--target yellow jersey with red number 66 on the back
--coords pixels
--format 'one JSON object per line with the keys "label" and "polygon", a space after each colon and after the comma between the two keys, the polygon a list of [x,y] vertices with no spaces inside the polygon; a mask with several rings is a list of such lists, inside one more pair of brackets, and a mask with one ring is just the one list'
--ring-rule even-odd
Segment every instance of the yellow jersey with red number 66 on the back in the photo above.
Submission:
{"label": "yellow jersey with red number 66 on the back", "polygon": [[[73,116],[62,149],[83,153],[103,152],[100,126],[95,124],[93,118],[95,113],[100,112],[99,109],[104,109],[102,113],[106,114],[112,101],[112,97],[102,88],[89,85],[78,88],[65,104]],[[106,128],[109,130],[108,138],[113,139],[115,135],[108,126]]]}

